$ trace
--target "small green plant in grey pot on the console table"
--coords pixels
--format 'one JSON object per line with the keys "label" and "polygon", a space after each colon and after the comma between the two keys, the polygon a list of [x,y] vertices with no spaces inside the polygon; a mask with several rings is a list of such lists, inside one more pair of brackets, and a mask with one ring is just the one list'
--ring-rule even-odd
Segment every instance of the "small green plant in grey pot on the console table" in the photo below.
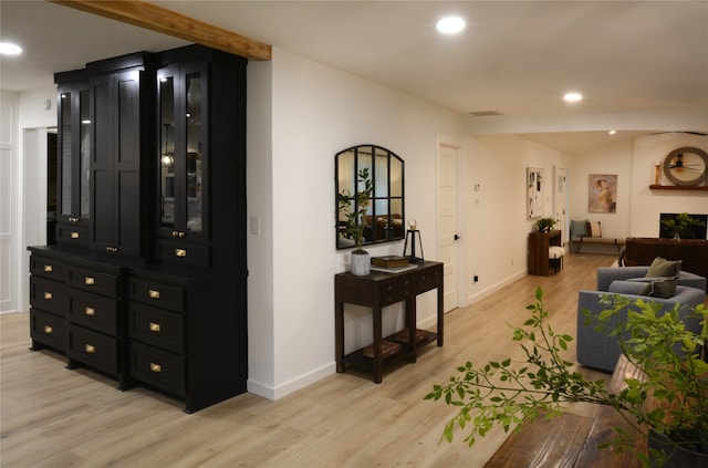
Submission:
{"label": "small green plant in grey pot on the console table", "polygon": [[352,251],[352,274],[366,275],[371,268],[371,257],[363,249],[365,216],[374,193],[374,183],[369,176],[368,167],[360,169],[357,181],[354,197],[346,193],[339,194],[339,210],[340,216],[344,219],[344,233],[354,241],[356,247]]}

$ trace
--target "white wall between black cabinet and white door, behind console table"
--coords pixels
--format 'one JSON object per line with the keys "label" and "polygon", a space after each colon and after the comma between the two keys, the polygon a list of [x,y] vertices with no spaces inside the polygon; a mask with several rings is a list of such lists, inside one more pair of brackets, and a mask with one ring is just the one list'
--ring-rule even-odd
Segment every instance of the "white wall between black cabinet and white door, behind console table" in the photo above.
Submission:
{"label": "white wall between black cabinet and white door, behind console table", "polygon": [[[336,251],[334,245],[334,155],[371,143],[405,160],[406,215],[416,218],[424,250],[433,254],[437,137],[461,138],[464,128],[456,113],[282,50],[273,50],[270,70],[253,63],[249,67],[253,65],[249,79],[271,74],[272,101],[259,112],[272,115],[272,179],[266,162],[249,169],[249,175],[262,169],[266,177],[262,184],[249,179],[248,188],[249,217],[262,220],[262,239],[249,237],[249,291],[264,300],[249,301],[249,389],[279,398],[334,372],[334,274],[348,269],[348,251]],[[249,90],[249,106],[261,107],[251,97],[266,86]],[[252,128],[249,123],[249,145],[262,149],[259,158],[268,157],[269,144],[254,142]],[[252,160],[249,154],[249,165]],[[272,257],[260,257],[270,236]],[[403,242],[367,250],[374,256],[402,253]],[[429,320],[435,310],[433,299],[424,298],[419,321]],[[346,315],[346,349],[368,344],[371,315],[354,306],[347,306]],[[386,315],[384,332],[393,332],[399,311]]]}

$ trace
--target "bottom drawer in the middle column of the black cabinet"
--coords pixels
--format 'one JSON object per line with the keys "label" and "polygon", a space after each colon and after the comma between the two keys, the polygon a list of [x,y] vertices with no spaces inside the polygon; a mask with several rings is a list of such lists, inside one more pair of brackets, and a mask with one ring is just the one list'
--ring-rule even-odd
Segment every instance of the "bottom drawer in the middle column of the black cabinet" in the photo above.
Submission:
{"label": "bottom drawer in the middle column of the black cabinet", "polygon": [[88,364],[108,374],[118,373],[118,341],[115,337],[69,324],[70,360]]}

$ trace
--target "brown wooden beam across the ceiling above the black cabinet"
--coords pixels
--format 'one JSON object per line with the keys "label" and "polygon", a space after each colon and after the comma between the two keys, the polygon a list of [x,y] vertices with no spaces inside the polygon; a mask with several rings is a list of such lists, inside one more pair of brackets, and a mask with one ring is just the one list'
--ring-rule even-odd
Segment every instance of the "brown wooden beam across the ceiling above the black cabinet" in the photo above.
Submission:
{"label": "brown wooden beam across the ceiling above the black cabinet", "polygon": [[271,46],[142,0],[49,0],[112,20],[185,39],[251,60],[271,60]]}

